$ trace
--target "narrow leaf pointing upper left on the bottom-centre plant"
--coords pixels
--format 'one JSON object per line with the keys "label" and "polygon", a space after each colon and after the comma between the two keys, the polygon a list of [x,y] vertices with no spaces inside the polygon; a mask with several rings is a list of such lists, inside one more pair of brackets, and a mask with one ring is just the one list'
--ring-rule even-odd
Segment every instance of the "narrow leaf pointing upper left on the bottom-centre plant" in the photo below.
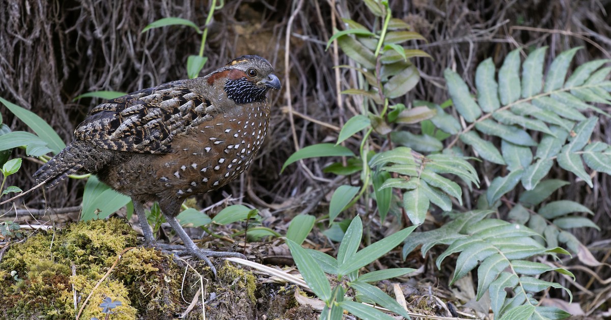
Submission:
{"label": "narrow leaf pointing upper left on the bottom-centre plant", "polygon": [[291,241],[291,239],[287,239],[287,245],[288,249],[291,250],[293,260],[295,260],[295,264],[304,277],[305,282],[316,296],[329,305],[331,302],[331,285],[323,269],[321,269],[316,260],[314,260],[301,245],[296,244]]}

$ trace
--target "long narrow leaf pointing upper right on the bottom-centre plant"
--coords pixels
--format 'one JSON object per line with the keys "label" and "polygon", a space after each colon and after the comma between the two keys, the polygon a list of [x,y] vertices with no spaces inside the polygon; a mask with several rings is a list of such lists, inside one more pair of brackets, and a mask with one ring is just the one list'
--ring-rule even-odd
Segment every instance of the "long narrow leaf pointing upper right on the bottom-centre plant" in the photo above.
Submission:
{"label": "long narrow leaf pointing upper right on the bottom-centre plant", "polygon": [[357,252],[348,261],[340,266],[337,274],[346,275],[350,272],[357,271],[361,267],[367,266],[382,255],[386,255],[390,250],[397,247],[407,236],[414,231],[416,225],[404,228],[401,231],[397,231],[378,242],[368,245],[364,249]]}

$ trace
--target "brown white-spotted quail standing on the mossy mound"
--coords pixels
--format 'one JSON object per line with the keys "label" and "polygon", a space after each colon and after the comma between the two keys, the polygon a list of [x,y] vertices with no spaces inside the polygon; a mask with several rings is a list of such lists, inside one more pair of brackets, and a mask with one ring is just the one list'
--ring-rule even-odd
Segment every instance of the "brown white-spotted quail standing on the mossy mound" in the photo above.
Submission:
{"label": "brown white-spotted quail standing on the mossy mound", "polygon": [[71,173],[94,173],[131,197],[148,245],[156,242],[142,205],[158,201],[182,249],[214,271],[208,256],[241,255],[199,250],[176,216],[186,197],[218,189],[251,164],[268,129],[269,89],[279,90],[280,81],[268,60],[241,56],[202,78],[109,100],[89,112],[76,139],[34,176],[52,187]]}

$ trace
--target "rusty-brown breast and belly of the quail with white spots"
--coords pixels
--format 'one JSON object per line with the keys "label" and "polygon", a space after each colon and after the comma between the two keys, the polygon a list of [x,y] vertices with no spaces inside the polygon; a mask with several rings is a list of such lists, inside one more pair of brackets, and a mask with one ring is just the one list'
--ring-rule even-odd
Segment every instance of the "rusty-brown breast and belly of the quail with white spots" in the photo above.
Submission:
{"label": "rusty-brown breast and belly of the quail with white spots", "polygon": [[234,180],[252,162],[263,143],[267,120],[219,117],[177,137],[172,152],[161,155],[155,172],[164,196],[187,197],[213,191]]}

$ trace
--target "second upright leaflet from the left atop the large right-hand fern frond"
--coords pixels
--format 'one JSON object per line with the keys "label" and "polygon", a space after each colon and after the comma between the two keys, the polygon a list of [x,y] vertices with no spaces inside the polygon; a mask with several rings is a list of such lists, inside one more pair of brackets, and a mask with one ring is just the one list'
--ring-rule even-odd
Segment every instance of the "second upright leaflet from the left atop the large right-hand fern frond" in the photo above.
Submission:
{"label": "second upright leaflet from the left atop the large right-hand fern frond", "polygon": [[477,66],[475,71],[475,87],[477,88],[477,102],[484,112],[499,109],[499,85],[494,79],[496,68],[492,58],[488,58]]}

